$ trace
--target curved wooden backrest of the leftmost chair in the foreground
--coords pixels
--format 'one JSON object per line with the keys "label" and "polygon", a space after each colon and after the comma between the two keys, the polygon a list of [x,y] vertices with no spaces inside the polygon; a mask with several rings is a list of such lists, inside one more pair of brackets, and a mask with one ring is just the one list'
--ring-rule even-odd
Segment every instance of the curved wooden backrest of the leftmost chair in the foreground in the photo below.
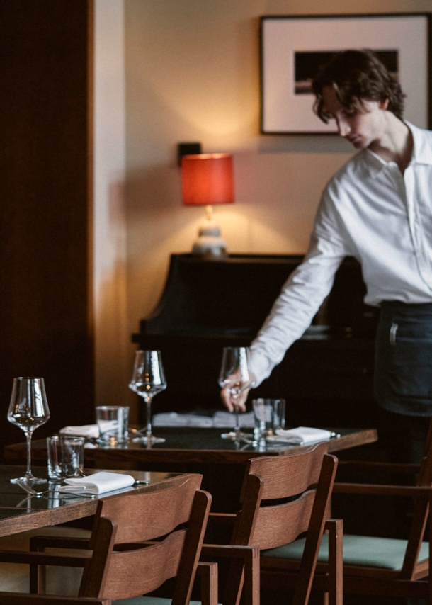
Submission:
{"label": "curved wooden backrest of the leftmost chair in the foreground", "polygon": [[176,577],[173,605],[187,604],[211,504],[201,479],[101,500],[79,596],[129,599]]}

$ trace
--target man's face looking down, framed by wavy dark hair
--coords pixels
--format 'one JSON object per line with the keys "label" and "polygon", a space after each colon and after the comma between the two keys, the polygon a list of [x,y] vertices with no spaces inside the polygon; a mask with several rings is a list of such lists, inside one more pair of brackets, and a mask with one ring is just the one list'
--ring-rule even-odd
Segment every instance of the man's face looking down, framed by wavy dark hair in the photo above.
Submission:
{"label": "man's face looking down, framed by wavy dark hair", "polygon": [[385,130],[387,101],[381,103],[363,99],[363,108],[348,109],[341,105],[332,86],[324,86],[322,100],[326,113],[336,120],[339,135],[356,149],[365,149],[380,142]]}

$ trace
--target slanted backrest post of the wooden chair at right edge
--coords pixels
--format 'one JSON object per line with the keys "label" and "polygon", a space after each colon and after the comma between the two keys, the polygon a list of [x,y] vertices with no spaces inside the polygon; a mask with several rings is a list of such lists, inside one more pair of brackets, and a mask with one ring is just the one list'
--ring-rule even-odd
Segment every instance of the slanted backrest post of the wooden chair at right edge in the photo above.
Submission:
{"label": "slanted backrest post of the wooden chair at right edge", "polygon": [[[421,460],[416,485],[418,487],[432,487],[432,420],[429,424],[426,439],[426,456]],[[429,497],[428,495],[420,495],[416,498],[414,505],[407,550],[405,551],[404,565],[401,571],[402,579],[414,579],[416,575],[416,566],[418,565],[421,543],[426,531],[428,514]]]}

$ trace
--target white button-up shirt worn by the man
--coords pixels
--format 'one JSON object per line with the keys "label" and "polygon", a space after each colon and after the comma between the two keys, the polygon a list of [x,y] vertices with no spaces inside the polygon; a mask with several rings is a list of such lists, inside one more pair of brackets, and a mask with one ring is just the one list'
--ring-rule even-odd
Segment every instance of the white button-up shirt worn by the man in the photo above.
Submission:
{"label": "white button-up shirt worn by the man", "polygon": [[414,149],[404,174],[363,149],[326,186],[305,261],[251,344],[257,384],[309,327],[345,256],[360,261],[368,305],[432,303],[432,132],[407,125]]}

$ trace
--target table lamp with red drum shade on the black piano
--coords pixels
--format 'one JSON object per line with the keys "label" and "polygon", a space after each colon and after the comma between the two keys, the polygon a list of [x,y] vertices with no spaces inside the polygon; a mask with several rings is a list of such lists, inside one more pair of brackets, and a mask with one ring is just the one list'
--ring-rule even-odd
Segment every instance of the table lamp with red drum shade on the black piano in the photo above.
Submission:
{"label": "table lamp with red drum shade on the black piano", "polygon": [[192,254],[227,256],[227,244],[212,220],[214,204],[234,202],[232,155],[227,153],[185,155],[181,159],[183,204],[205,205],[206,220],[200,225]]}

